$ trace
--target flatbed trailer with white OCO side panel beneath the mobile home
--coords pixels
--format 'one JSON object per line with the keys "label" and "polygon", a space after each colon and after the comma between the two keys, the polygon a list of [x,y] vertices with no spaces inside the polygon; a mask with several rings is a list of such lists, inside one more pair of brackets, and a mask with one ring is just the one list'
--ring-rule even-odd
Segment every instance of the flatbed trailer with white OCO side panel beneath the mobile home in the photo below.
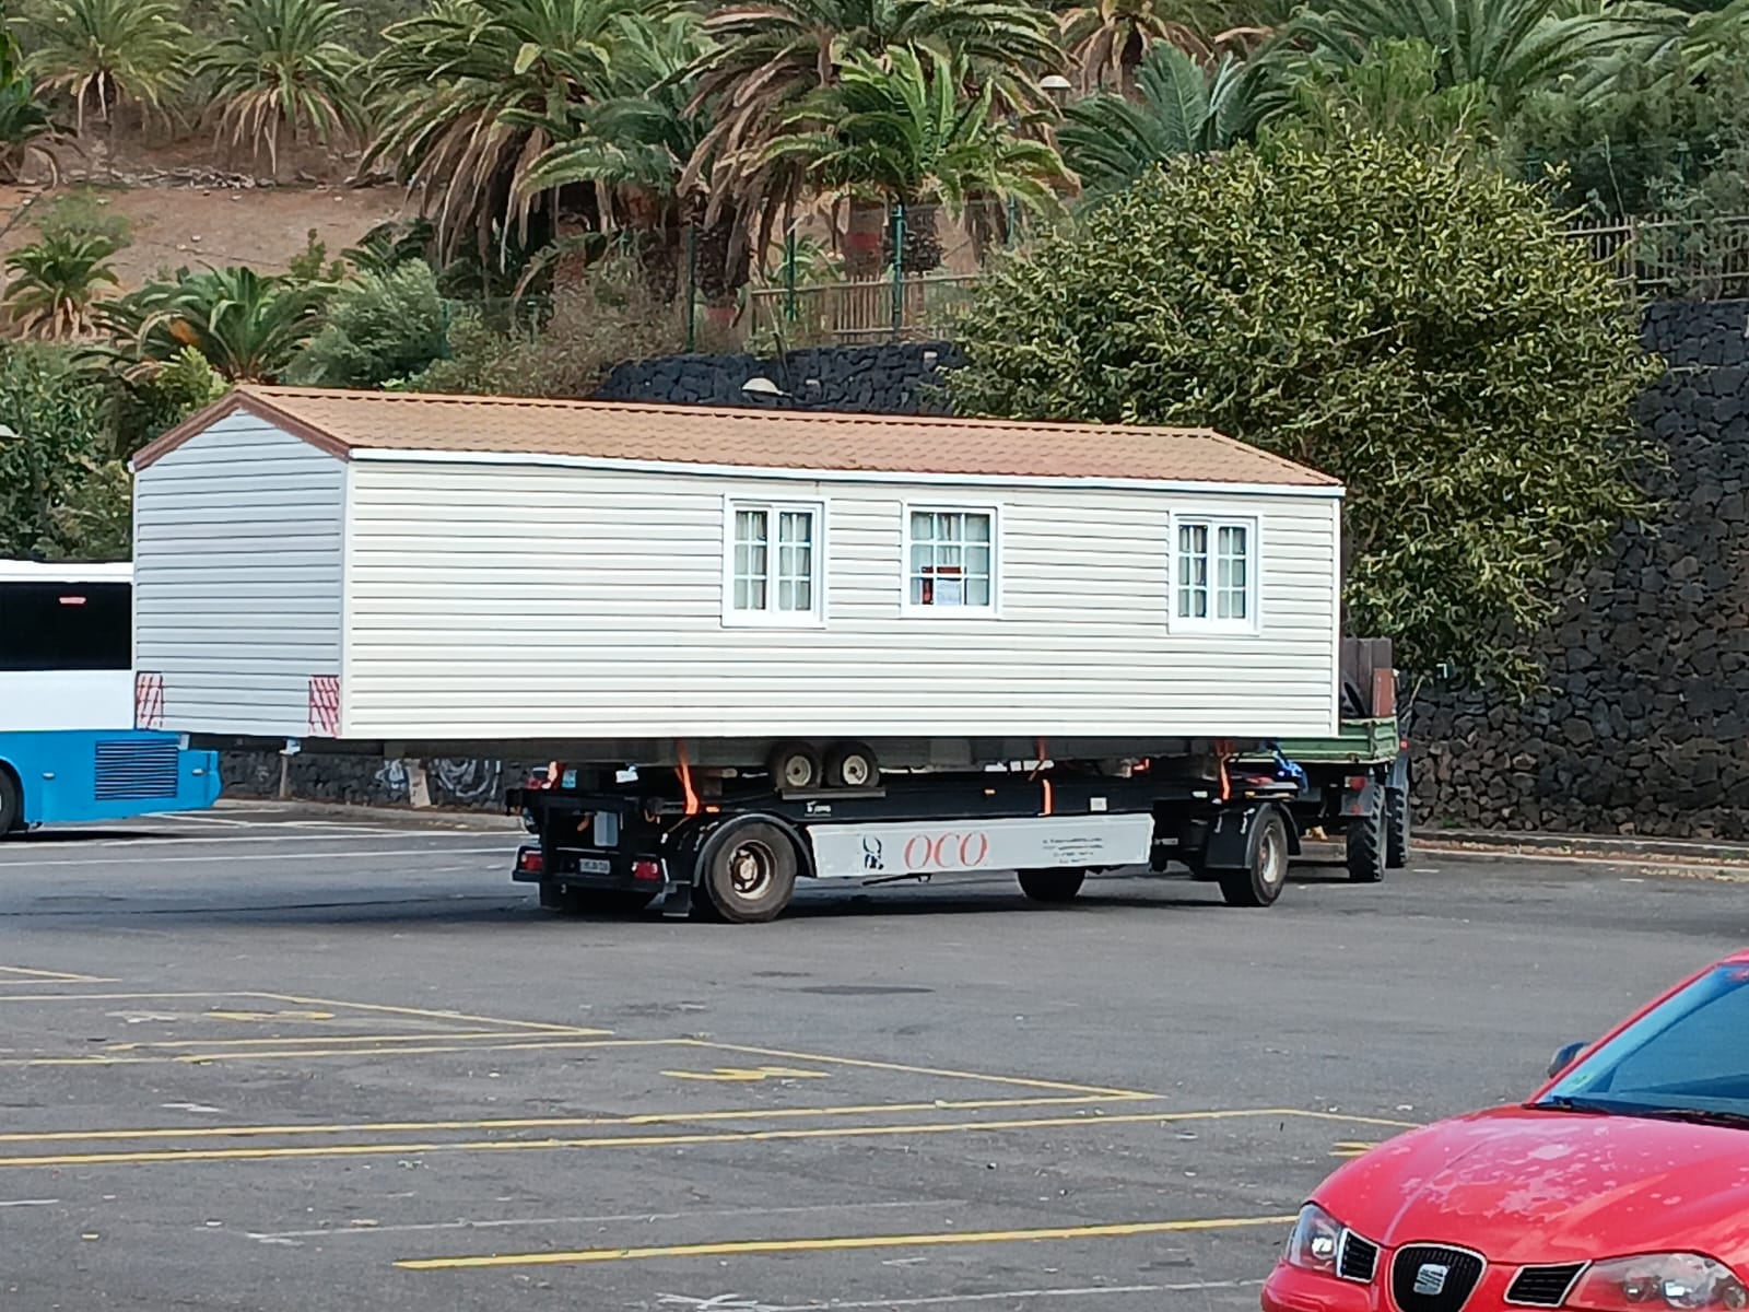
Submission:
{"label": "flatbed trailer with white OCO side panel beneath the mobile home", "polygon": [[1088,873],[1184,866],[1231,906],[1270,906],[1300,852],[1298,785],[1272,773],[1014,763],[916,771],[868,787],[787,789],[780,777],[558,766],[507,806],[533,833],[514,880],[556,911],[771,920],[799,878],[861,885],[1007,871],[1041,903],[1067,903]]}

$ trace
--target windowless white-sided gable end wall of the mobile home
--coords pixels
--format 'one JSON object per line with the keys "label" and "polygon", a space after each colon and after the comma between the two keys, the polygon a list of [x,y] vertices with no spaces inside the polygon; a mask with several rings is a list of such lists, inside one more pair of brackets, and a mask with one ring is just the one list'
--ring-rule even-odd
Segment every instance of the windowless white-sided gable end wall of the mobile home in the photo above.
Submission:
{"label": "windowless white-sided gable end wall of the mobile home", "polygon": [[135,479],[135,666],[164,726],[303,736],[341,672],[343,462],[247,413]]}

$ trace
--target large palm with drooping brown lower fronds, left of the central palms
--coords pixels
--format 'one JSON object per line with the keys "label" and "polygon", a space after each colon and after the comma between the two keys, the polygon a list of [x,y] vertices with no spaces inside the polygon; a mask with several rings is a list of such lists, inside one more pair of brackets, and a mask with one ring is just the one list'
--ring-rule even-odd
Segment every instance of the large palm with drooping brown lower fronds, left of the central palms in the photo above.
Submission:
{"label": "large palm with drooping brown lower fronds, left of the central palms", "polygon": [[551,187],[528,171],[570,107],[602,100],[640,0],[448,0],[392,24],[373,65],[383,124],[366,164],[388,163],[420,192],[448,259],[472,231],[526,238]]}

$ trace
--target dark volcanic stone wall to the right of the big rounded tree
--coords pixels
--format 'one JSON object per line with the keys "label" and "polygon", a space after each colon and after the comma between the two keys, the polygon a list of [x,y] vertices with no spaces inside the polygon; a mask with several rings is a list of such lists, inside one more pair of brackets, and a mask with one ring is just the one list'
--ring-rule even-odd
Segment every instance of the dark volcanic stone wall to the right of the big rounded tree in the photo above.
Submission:
{"label": "dark volcanic stone wall to the right of the big rounded tree", "polygon": [[1537,640],[1543,696],[1417,698],[1424,820],[1749,838],[1749,303],[1655,306],[1646,341],[1670,366],[1641,399],[1660,507]]}

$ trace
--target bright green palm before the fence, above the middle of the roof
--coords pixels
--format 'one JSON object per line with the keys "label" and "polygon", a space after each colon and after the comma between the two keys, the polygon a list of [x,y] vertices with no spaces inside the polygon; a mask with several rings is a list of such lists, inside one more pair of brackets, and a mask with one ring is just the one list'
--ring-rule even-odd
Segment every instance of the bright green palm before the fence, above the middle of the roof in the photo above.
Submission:
{"label": "bright green palm before the fence, above the middle of the roof", "polygon": [[[978,201],[1009,198],[1046,210],[1056,199],[1053,187],[1069,184],[1056,150],[1016,135],[995,112],[995,87],[967,94],[969,80],[964,56],[932,49],[918,56],[902,45],[885,59],[852,54],[838,84],[801,101],[785,117],[789,131],[764,154],[799,164],[820,191],[864,210],[902,205],[915,224],[902,266],[932,269],[941,243],[936,213],[923,206],[939,205],[953,219]],[[880,247],[848,254],[861,257],[852,271],[866,273]]]}

